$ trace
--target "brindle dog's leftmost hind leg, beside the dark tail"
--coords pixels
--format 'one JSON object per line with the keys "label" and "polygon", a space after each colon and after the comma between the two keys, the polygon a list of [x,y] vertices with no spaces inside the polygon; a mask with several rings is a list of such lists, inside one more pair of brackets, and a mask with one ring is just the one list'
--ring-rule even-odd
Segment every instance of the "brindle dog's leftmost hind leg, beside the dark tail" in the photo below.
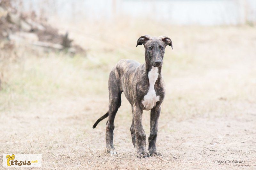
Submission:
{"label": "brindle dog's leftmost hind leg, beside the dark tail", "polygon": [[121,93],[114,87],[109,87],[109,106],[108,106],[108,122],[106,125],[106,148],[108,153],[116,154],[115,147],[113,144],[113,137],[115,129],[114,120],[118,108],[121,106]]}

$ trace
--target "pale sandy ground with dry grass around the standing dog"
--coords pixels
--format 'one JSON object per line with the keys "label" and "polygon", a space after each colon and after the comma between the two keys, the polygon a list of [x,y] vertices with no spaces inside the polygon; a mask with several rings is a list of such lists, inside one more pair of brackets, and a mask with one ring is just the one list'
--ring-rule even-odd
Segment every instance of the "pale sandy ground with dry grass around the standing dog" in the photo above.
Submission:
{"label": "pale sandy ground with dry grass around the standing dog", "polygon": [[[0,153],[42,153],[42,169],[255,169],[255,27],[158,29],[152,23],[144,30],[118,23],[111,29],[58,24],[88,48],[87,57],[17,47],[18,59],[1,65]],[[118,154],[111,156],[104,148],[106,120],[92,125],[108,109],[113,65],[122,58],[143,62],[144,49],[135,45],[144,34],[173,41],[163,65],[166,98],[157,137],[163,156],[136,158],[124,95],[115,120]],[[144,111],[147,137],[149,120]]]}

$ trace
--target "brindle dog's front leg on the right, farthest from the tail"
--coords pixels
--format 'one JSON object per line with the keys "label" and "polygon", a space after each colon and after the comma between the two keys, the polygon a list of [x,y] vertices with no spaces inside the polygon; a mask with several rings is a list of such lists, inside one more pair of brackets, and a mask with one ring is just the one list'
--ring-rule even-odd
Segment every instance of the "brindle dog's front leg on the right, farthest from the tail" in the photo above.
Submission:
{"label": "brindle dog's front leg on the right, farthest from the tail", "polygon": [[161,106],[151,109],[150,112],[150,135],[148,137],[148,151],[151,156],[159,155],[162,156],[160,152],[156,150],[156,137],[158,131],[158,119],[161,113]]}

